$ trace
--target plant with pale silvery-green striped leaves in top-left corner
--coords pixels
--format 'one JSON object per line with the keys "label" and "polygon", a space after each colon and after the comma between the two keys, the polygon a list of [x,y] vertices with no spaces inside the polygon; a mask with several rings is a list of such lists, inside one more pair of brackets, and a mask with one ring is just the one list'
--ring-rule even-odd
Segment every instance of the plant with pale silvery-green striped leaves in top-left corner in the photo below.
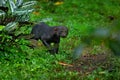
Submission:
{"label": "plant with pale silvery-green striped leaves in top-left corner", "polygon": [[[34,10],[36,1],[23,2],[23,0],[1,0],[0,3],[0,24],[5,25],[5,30],[11,32],[16,29],[17,22],[29,21],[29,14]],[[13,30],[12,30],[13,31]]]}

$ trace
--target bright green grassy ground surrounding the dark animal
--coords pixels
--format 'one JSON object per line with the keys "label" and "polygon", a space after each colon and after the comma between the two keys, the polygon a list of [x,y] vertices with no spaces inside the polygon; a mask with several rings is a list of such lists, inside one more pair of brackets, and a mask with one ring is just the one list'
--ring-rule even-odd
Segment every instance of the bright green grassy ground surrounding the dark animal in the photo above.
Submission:
{"label": "bright green grassy ground surrounding the dark animal", "polygon": [[[83,55],[78,60],[72,59],[74,49],[81,44],[82,35],[88,35],[94,27],[107,27],[120,17],[119,0],[64,0],[56,4],[38,2],[31,20],[45,21],[50,26],[67,26],[69,35],[61,39],[59,54],[56,55],[46,52],[40,41],[33,50],[25,46],[26,41],[20,40],[20,50],[12,46],[12,53],[0,54],[1,80],[120,80],[119,57],[112,55],[109,58],[108,55],[103,57],[101,54],[96,56],[97,53],[110,54],[106,48],[94,44],[84,52],[89,52],[88,58]],[[102,62],[108,64],[107,68],[101,68],[105,67]],[[91,69],[88,68],[90,65]]]}

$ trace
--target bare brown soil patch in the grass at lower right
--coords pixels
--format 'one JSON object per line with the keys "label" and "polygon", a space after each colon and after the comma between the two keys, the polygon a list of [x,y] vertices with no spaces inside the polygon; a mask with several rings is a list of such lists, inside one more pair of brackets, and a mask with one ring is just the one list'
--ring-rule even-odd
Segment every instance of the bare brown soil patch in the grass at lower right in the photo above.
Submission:
{"label": "bare brown soil patch in the grass at lower right", "polygon": [[85,54],[79,59],[73,61],[72,66],[68,66],[67,69],[77,71],[82,74],[89,74],[98,68],[111,71],[113,66],[110,57],[111,55],[108,54]]}

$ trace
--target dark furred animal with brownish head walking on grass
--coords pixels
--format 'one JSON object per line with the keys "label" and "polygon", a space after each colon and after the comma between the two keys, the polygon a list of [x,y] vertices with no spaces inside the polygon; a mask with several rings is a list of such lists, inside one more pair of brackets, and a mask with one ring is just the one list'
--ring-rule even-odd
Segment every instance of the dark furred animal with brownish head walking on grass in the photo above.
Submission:
{"label": "dark furred animal with brownish head walking on grass", "polygon": [[[58,53],[60,37],[67,37],[68,29],[63,26],[50,27],[44,22],[41,22],[33,27],[31,34],[34,35],[33,39],[40,39],[50,53]],[[54,44],[51,45],[51,43]]]}

